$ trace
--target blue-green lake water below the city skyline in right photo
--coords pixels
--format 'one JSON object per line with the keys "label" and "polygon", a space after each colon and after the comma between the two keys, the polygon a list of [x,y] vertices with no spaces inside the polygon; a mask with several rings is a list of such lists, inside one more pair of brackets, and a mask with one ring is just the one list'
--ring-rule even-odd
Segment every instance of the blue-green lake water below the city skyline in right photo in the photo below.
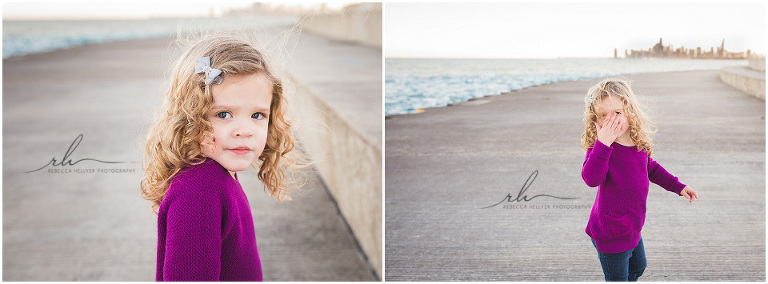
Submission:
{"label": "blue-green lake water below the city skyline in right photo", "polygon": [[[385,61],[386,115],[446,106],[536,85],[630,73],[718,70],[746,60],[391,59]],[[586,90],[585,90],[586,92]]]}

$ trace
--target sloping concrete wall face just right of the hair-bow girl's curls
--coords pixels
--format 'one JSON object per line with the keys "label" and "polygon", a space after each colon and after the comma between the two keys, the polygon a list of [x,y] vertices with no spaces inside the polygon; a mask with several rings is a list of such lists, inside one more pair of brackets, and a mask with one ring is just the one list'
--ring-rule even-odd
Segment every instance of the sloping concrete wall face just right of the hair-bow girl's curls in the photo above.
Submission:
{"label": "sloping concrete wall face just right of the hair-bow girl's curls", "polygon": [[[296,80],[293,80],[296,82]],[[378,276],[382,276],[381,145],[353,128],[300,82],[291,115],[296,136]]]}

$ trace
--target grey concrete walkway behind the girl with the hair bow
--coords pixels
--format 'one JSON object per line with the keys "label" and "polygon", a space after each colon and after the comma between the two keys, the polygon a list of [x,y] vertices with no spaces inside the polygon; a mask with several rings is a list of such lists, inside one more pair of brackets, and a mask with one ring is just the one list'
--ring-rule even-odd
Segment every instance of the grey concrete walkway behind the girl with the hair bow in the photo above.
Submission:
{"label": "grey concrete walkway behind the girl with the hair bow", "polygon": [[[157,217],[140,197],[141,141],[162,103],[165,68],[180,53],[168,47],[168,39],[151,39],[3,61],[4,281],[154,280]],[[296,48],[322,54],[331,46]],[[25,173],[62,159],[79,134],[70,159],[131,163]],[[315,175],[303,194],[280,204],[263,193],[254,170],[239,177],[265,280],[373,279]]]}

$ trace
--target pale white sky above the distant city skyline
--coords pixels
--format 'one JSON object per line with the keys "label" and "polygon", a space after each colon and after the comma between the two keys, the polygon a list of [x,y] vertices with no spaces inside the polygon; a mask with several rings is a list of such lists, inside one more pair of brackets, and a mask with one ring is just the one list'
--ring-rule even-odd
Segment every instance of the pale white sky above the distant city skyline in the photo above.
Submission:
{"label": "pale white sky above the distant city skyline", "polygon": [[752,3],[386,3],[386,57],[612,57],[664,38],[674,48],[765,54],[766,5]]}

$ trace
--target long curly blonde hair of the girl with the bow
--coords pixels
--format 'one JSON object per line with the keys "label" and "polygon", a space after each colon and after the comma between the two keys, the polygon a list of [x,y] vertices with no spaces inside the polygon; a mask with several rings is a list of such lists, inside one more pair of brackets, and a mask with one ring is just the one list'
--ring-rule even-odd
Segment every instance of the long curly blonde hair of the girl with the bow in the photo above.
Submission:
{"label": "long curly blonde hair of the girl with the bow", "polygon": [[221,70],[224,81],[228,76],[255,73],[264,73],[272,81],[267,141],[251,166],[258,170],[265,192],[282,201],[288,191],[285,168],[295,165],[295,159],[288,155],[294,148],[294,138],[291,122],[285,116],[283,85],[261,52],[246,40],[230,35],[197,40],[175,62],[163,109],[146,137],[142,197],[153,202],[152,211],[157,214],[171,179],[181,169],[205,161],[200,141],[202,137],[214,138],[207,120],[213,94],[211,86],[205,84],[205,73],[195,73],[195,62],[201,56],[210,57],[211,68]]}

